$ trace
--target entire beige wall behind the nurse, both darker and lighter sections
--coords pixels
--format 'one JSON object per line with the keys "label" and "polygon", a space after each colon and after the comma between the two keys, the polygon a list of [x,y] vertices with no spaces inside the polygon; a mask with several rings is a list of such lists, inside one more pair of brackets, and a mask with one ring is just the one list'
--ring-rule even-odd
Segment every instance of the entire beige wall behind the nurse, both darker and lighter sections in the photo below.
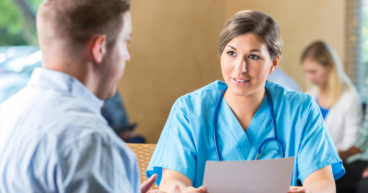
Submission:
{"label": "entire beige wall behind the nurse, both darker and lighter sections", "polygon": [[222,80],[217,38],[237,11],[255,8],[275,17],[284,40],[281,68],[305,87],[302,49],[325,40],[344,59],[343,0],[132,0],[133,36],[118,89],[137,133],[157,143],[174,101]]}

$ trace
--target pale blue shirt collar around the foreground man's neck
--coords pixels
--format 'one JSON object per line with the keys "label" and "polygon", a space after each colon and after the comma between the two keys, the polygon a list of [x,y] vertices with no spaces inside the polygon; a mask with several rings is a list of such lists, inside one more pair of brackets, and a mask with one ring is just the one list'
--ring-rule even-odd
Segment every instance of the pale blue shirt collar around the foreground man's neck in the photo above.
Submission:
{"label": "pale blue shirt collar around the foreground man's neck", "polygon": [[99,115],[101,114],[103,100],[98,99],[76,78],[63,72],[46,68],[35,68],[28,85],[69,93],[72,96],[81,98],[93,111]]}

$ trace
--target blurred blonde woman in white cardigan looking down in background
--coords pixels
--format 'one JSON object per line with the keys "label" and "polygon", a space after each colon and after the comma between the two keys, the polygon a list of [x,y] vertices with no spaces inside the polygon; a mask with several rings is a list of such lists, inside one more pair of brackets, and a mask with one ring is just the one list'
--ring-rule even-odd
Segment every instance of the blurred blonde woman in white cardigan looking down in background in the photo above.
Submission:
{"label": "blurred blonde woman in white cardigan looking down in background", "polygon": [[353,145],[362,121],[361,100],[335,50],[315,42],[302,54],[302,67],[314,86],[306,93],[317,101],[336,149]]}

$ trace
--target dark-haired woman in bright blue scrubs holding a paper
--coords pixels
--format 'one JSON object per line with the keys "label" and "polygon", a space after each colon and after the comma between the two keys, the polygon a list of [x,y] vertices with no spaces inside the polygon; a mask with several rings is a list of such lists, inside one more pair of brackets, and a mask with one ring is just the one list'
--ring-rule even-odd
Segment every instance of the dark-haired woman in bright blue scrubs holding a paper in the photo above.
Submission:
{"label": "dark-haired woman in bright blue scrubs holding a paper", "polygon": [[[183,192],[206,192],[201,187],[205,162],[217,160],[213,115],[226,85],[216,123],[220,158],[254,160],[263,140],[273,137],[267,88],[276,136],[285,157],[296,157],[290,192],[335,192],[334,180],[345,171],[318,105],[307,94],[266,81],[282,51],[276,20],[258,10],[240,11],[224,26],[218,43],[225,82],[215,81],[176,100],[147,176],[158,174],[156,183],[165,192],[173,185]],[[270,141],[261,152],[258,159],[280,158],[281,147]],[[295,187],[297,179],[303,187]]]}

